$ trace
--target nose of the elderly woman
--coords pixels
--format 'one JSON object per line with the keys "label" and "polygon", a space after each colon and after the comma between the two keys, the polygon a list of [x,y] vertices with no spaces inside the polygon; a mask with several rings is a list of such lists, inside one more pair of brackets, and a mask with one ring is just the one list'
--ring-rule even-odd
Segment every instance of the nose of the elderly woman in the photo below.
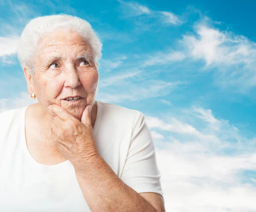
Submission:
{"label": "nose of the elderly woman", "polygon": [[79,80],[79,74],[77,73],[76,69],[74,68],[73,64],[65,69],[65,87],[76,88],[80,86],[81,82]]}

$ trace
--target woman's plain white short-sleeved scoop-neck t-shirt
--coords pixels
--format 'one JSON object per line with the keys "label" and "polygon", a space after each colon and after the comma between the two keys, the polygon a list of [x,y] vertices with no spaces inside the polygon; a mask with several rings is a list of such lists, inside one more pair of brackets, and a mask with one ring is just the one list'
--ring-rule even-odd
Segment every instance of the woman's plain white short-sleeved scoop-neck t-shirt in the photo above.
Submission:
{"label": "woman's plain white short-sleeved scoop-neck t-shirt", "polygon": [[[136,192],[163,196],[154,144],[143,113],[97,103],[93,133],[99,154]],[[0,113],[0,211],[90,212],[69,160],[49,166],[29,154],[26,109]]]}

